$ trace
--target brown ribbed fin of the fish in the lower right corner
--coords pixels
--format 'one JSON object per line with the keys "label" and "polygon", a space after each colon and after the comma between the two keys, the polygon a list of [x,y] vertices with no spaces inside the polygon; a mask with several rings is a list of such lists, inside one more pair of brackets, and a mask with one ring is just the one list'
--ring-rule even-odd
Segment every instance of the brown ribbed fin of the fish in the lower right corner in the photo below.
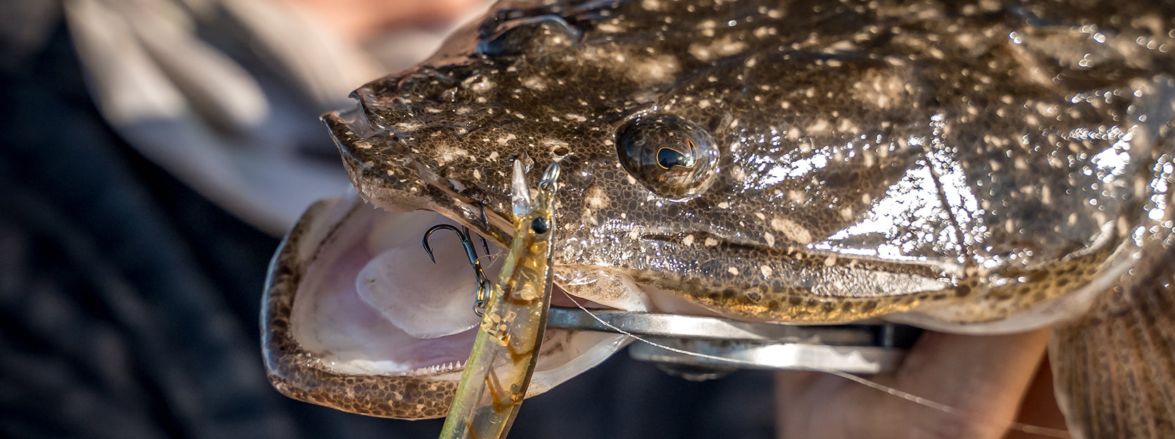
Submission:
{"label": "brown ribbed fin of the fish in the lower right corner", "polygon": [[1053,383],[1074,438],[1175,438],[1175,246],[1142,256],[1054,329]]}

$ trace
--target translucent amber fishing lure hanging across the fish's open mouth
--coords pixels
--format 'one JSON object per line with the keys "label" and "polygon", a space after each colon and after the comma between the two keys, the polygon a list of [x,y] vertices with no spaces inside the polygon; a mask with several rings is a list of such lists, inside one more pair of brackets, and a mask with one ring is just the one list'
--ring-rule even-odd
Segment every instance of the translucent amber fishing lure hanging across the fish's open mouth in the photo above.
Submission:
{"label": "translucent amber fishing lure hanging across the fish's open mouth", "polygon": [[490,289],[442,439],[505,437],[526,396],[551,304],[551,198],[558,176],[558,163],[551,163],[531,201],[522,163],[513,163],[513,241]]}

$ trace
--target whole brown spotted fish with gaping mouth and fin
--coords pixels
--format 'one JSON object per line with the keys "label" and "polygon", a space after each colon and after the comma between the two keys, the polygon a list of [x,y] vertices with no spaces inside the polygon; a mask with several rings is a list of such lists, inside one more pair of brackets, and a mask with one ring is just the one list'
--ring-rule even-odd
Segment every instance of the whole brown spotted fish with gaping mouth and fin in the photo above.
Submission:
{"label": "whole brown spotted fish with gaping mouth and fin", "polygon": [[[275,255],[270,380],[443,416],[476,285],[417,272],[401,237],[448,221],[505,245],[512,163],[558,162],[556,298],[1052,327],[1075,435],[1175,435],[1173,49],[1170,2],[499,2],[323,116],[357,195]],[[627,343],[543,337],[528,396]]]}

